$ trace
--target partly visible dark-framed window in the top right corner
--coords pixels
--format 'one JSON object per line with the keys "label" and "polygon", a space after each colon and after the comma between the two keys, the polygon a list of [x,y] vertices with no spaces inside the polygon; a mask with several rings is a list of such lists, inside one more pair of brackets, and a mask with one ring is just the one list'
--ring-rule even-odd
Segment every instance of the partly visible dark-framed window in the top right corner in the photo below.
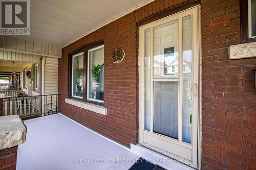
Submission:
{"label": "partly visible dark-framed window in the top right corner", "polygon": [[240,0],[242,43],[256,42],[256,0]]}

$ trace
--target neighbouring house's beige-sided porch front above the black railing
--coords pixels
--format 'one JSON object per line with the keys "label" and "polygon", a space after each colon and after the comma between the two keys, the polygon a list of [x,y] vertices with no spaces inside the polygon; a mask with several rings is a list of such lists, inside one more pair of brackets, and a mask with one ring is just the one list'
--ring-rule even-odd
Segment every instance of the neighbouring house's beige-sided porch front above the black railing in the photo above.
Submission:
{"label": "neighbouring house's beige-sided porch front above the black railing", "polygon": [[[34,95],[57,93],[57,61],[61,48],[6,36],[0,40],[0,72],[19,72],[20,86],[26,93],[29,84]],[[30,80],[27,71],[31,73]]]}

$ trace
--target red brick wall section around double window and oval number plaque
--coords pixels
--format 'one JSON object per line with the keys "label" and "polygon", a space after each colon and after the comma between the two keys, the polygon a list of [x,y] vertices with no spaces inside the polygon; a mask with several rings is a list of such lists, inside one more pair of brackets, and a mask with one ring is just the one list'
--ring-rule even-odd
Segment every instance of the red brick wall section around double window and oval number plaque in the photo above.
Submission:
{"label": "red brick wall section around double window and oval number plaque", "polygon": [[[119,143],[138,142],[138,27],[137,23],[177,8],[189,1],[155,1],[129,13],[62,49],[58,63],[59,109],[61,113]],[[65,103],[68,97],[68,54],[77,48],[104,40],[104,107],[100,115]],[[125,57],[115,64],[111,53],[122,47]]]}

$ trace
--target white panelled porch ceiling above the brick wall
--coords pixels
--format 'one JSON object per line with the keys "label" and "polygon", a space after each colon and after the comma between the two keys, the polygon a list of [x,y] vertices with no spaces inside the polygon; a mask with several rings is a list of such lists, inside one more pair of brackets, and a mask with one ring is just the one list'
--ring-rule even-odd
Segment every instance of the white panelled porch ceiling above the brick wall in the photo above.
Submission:
{"label": "white panelled porch ceiling above the brick wall", "polygon": [[19,39],[60,47],[152,0],[31,0],[30,36]]}

